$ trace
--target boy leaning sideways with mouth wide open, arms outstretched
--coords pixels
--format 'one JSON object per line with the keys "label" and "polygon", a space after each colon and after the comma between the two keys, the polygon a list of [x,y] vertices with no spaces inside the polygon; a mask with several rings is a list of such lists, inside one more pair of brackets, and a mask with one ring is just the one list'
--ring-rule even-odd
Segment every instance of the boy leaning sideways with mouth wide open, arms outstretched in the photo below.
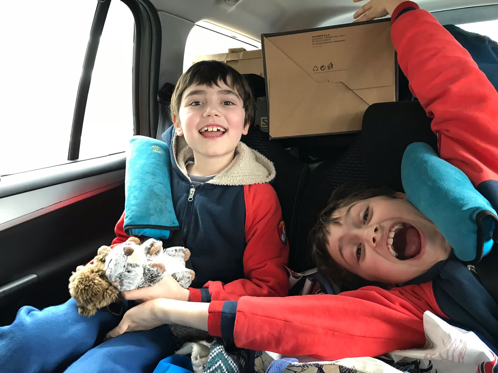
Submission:
{"label": "boy leaning sideways with mouth wide open, arms outstretched", "polygon": [[[496,90],[469,53],[416,3],[371,0],[355,18],[387,14],[399,65],[433,118],[439,156],[464,170],[497,207]],[[325,275],[364,287],[209,305],[154,299],[128,311],[109,336],[179,323],[232,339],[241,348],[336,360],[423,346],[423,315],[430,311],[475,332],[497,352],[498,305],[466,264],[451,256],[438,227],[402,194],[340,192],[311,234],[313,252]]]}

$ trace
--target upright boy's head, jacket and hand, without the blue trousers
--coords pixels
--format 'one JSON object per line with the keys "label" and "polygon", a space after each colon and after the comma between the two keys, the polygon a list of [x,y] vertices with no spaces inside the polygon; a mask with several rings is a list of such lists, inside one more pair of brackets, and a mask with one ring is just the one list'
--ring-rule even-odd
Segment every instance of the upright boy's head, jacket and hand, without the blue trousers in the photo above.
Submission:
{"label": "upright boy's head, jacket and hand, without the blue trousers", "polygon": [[[209,302],[243,295],[284,296],[288,244],[278,234],[280,204],[268,182],[272,163],[242,143],[255,104],[246,80],[217,61],[201,61],[171,97],[171,194],[184,246],[196,273],[183,289],[169,276],[158,286],[124,292]],[[124,214],[113,244],[124,242]]]}

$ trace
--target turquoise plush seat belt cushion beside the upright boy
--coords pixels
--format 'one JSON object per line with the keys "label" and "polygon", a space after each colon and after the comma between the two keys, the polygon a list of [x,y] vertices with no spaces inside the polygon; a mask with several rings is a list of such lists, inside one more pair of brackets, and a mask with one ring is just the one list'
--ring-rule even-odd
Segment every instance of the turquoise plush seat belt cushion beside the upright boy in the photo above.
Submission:
{"label": "turquoise plush seat belt cushion beside the upright boy", "polygon": [[171,197],[171,160],[167,145],[146,136],[129,140],[124,176],[124,232],[168,239],[178,230]]}

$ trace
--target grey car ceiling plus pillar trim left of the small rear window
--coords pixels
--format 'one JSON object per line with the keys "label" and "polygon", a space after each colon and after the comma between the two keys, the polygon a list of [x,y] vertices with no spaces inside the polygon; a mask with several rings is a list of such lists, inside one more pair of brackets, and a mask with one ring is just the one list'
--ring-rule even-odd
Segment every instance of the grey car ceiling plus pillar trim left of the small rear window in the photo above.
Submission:
{"label": "grey car ceiling plus pillar trim left of the small rear window", "polygon": [[[196,22],[214,23],[260,40],[261,33],[349,23],[359,3],[352,0],[150,0],[161,22],[159,88],[176,84],[182,73],[185,42]],[[237,2],[238,1],[238,2]],[[429,11],[494,5],[498,0],[419,0]]]}

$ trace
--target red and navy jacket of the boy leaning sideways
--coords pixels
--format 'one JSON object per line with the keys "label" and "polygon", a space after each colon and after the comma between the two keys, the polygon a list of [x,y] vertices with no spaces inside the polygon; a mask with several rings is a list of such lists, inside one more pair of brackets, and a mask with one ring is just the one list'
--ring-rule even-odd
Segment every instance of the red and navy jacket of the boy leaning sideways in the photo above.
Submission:
{"label": "red and navy jacket of the boy leaning sideways", "polygon": [[[433,118],[440,157],[464,171],[497,208],[497,91],[469,53],[416,3],[398,5],[391,21],[399,65]],[[374,357],[422,346],[425,311],[498,348],[497,303],[453,258],[390,290],[367,286],[338,295],[211,302],[208,329],[238,347],[288,356]]]}

